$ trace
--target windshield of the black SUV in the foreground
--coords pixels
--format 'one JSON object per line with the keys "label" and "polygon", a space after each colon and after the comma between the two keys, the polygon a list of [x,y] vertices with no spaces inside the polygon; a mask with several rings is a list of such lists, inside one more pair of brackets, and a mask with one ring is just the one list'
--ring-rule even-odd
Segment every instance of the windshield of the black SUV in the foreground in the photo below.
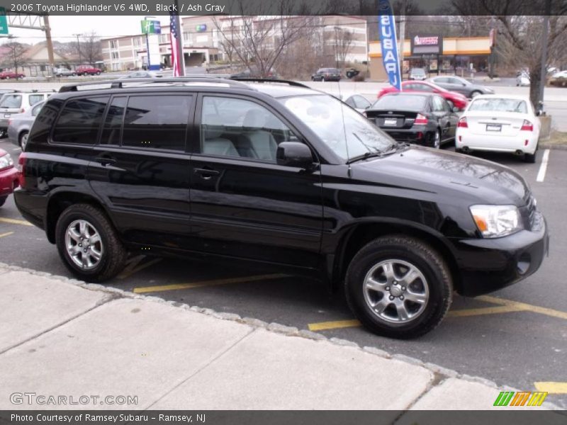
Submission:
{"label": "windshield of the black SUV in the foreground", "polygon": [[386,152],[396,145],[363,115],[332,96],[296,96],[280,101],[342,159]]}

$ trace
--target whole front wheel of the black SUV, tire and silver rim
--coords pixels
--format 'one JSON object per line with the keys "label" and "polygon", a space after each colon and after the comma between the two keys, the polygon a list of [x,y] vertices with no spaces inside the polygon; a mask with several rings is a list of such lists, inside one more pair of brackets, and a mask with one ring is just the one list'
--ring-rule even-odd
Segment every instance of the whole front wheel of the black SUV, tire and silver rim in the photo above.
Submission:
{"label": "whole front wheel of the black SUV, tire and silver rim", "polygon": [[451,306],[453,283],[442,256],[412,237],[370,242],[354,256],[345,280],[354,315],[375,334],[409,339],[437,327]]}

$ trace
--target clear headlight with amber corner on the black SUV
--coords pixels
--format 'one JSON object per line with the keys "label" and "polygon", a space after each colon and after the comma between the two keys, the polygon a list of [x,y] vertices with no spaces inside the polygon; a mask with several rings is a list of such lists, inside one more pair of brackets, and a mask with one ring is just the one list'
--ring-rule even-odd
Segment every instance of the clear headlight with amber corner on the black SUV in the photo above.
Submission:
{"label": "clear headlight with amber corner on the black SUV", "polygon": [[501,237],[524,228],[515,205],[472,205],[471,214],[483,237]]}

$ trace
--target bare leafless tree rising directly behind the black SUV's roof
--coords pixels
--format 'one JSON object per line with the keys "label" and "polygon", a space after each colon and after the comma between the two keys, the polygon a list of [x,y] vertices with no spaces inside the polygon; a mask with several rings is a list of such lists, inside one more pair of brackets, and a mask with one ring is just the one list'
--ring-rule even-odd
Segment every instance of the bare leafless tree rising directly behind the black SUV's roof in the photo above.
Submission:
{"label": "bare leafless tree rising directly behind the black SUV's roof", "polygon": [[[282,53],[313,26],[313,16],[293,14],[298,10],[294,3],[293,0],[262,3],[235,0],[232,11],[237,11],[237,17],[230,26],[226,25],[227,20],[214,19],[223,43],[252,74],[267,77]],[[258,13],[255,16],[247,14],[252,6]]]}

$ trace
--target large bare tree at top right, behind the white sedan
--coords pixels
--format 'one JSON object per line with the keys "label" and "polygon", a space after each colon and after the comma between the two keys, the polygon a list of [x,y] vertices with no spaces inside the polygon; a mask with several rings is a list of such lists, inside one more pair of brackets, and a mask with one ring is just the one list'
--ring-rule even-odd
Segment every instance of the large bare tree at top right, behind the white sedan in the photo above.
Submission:
{"label": "large bare tree at top right, behind the white sedan", "polygon": [[[546,66],[565,60],[567,52],[567,6],[549,1],[549,36]],[[541,88],[541,55],[544,17],[538,2],[531,0],[452,0],[462,15],[490,15],[498,23],[499,55],[510,65],[529,69],[529,98],[537,106]],[[538,6],[539,5],[539,6]],[[511,15],[515,13],[515,15]],[[516,14],[517,13],[517,14]]]}

